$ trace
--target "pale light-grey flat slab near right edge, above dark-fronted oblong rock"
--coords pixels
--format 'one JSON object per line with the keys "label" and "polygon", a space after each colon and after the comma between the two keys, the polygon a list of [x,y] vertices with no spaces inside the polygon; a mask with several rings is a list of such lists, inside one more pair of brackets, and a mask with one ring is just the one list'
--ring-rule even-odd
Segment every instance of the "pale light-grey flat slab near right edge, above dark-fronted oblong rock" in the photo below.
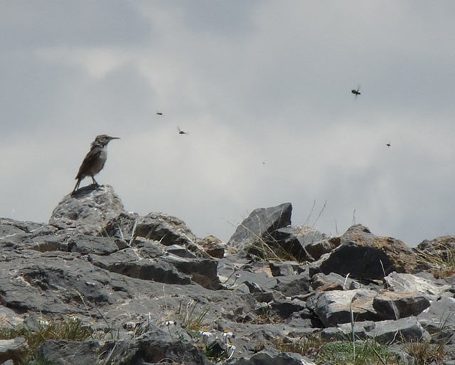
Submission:
{"label": "pale light-grey flat slab near right edge, above dark-fronted oblong rock", "polygon": [[395,292],[418,292],[430,300],[437,300],[451,285],[439,285],[432,280],[406,273],[390,273],[384,278],[387,287]]}

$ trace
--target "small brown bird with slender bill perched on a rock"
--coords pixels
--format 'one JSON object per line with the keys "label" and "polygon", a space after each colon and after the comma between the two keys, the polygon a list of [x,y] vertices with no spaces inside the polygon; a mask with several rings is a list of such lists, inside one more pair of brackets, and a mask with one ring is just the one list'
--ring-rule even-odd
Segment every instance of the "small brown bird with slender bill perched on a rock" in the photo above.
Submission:
{"label": "small brown bird with slender bill perched on a rock", "polygon": [[77,172],[75,177],[77,182],[71,194],[74,194],[75,191],[79,189],[80,181],[87,176],[92,178],[95,186],[100,186],[94,176],[105,166],[107,159],[106,147],[112,139],[119,139],[119,137],[110,137],[107,134],[100,134],[95,138],[95,141],[92,142],[90,151],[85,155],[84,161],[82,161],[79,171]]}

